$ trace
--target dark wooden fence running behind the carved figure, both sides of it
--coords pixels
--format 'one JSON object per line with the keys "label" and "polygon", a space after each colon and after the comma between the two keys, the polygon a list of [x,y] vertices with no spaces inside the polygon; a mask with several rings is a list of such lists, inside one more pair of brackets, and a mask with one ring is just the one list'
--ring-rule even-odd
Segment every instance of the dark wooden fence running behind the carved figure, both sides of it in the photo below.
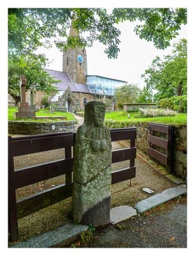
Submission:
{"label": "dark wooden fence running behind the carved figure, both sides of it", "polygon": [[[134,166],[134,159],[136,158],[136,128],[111,129],[110,133],[112,141],[130,140],[129,148],[112,152],[112,163],[130,159],[128,168],[112,172],[112,184],[115,184],[123,180],[132,179],[136,175],[136,167]],[[71,196],[73,172],[71,147],[74,146],[75,135],[73,132],[64,132],[18,138],[8,136],[8,229],[10,241],[17,239],[18,219]],[[64,148],[64,159],[14,170],[13,157],[58,148]],[[66,176],[65,184],[16,200],[15,189],[59,175]]]}

